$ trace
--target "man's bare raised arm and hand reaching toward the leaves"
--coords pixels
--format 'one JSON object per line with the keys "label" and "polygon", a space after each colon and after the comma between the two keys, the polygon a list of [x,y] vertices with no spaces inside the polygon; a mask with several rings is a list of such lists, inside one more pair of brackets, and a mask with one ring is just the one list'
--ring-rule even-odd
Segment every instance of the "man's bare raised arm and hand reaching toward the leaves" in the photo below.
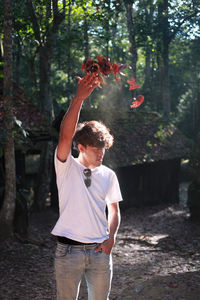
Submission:
{"label": "man's bare raised arm and hand reaching toward the leaves", "polygon": [[97,85],[98,80],[95,80],[95,75],[86,75],[83,79],[79,80],[76,94],[60,126],[57,157],[62,162],[66,161],[69,155],[83,101],[92,93]]}

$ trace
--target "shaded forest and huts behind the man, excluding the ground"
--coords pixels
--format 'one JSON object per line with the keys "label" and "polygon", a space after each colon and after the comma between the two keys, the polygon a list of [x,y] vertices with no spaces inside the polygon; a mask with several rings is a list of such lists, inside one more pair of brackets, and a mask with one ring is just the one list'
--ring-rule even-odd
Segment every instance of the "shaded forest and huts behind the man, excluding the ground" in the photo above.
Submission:
{"label": "shaded forest and huts behind the man, excluding the ground", "polygon": [[[6,3],[0,4],[0,203],[6,235],[27,233],[32,211],[57,209],[53,153],[59,122],[76,76],[84,76],[83,60],[97,55],[131,67],[119,74],[120,82],[105,78],[81,114],[81,120],[101,119],[115,136],[105,164],[119,175],[125,207],[178,202],[180,169],[187,161],[188,203],[198,219],[199,153],[193,147],[200,122],[198,3]],[[137,92],[128,90],[131,77],[140,84]],[[145,101],[133,110],[137,93]],[[15,147],[12,160],[6,145],[12,153]],[[8,170],[15,175],[15,164],[16,183],[8,175]]]}

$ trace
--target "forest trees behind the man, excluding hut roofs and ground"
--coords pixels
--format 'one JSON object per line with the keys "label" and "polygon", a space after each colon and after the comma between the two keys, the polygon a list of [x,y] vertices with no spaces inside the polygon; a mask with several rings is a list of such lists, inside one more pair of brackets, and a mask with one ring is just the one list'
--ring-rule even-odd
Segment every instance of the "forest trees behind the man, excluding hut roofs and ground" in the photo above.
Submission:
{"label": "forest trees behind the man, excluding hut roofs and ground", "polygon": [[[0,44],[4,81],[0,155],[5,157],[0,228],[4,234],[13,232],[15,123],[26,139],[23,125],[13,116],[13,82],[51,127],[55,116],[69,106],[77,76],[84,76],[85,59],[98,55],[128,64],[131,68],[123,70],[121,81],[106,78],[107,84],[94,91],[84,108],[131,111],[136,93],[129,91],[127,79],[134,77],[145,97],[139,109],[160,113],[195,144],[200,128],[199,0],[4,0],[0,2]],[[50,149],[46,143],[41,167],[49,161]],[[40,173],[36,194],[45,198],[48,169]]]}

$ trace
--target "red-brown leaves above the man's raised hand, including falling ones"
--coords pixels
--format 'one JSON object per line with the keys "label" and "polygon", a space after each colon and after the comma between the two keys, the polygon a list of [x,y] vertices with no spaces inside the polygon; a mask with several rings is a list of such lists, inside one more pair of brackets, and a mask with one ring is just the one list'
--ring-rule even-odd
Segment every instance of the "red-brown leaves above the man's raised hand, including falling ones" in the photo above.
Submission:
{"label": "red-brown leaves above the man's raised hand, including falling ones", "polygon": [[[91,58],[85,60],[81,66],[81,70],[86,71],[87,74],[96,74],[95,79],[98,79],[98,86],[101,87],[101,84],[105,84],[103,77],[107,77],[110,73],[113,73],[116,81],[119,82],[121,80],[119,73],[121,73],[127,67],[130,68],[130,66],[127,64],[116,62],[112,63],[105,57],[97,56],[97,60],[93,60]],[[127,80],[127,82],[130,85],[129,90],[140,88],[140,85],[135,82],[135,79],[133,77],[131,78],[131,80]],[[144,96],[138,95],[132,102],[131,107],[136,108],[140,106],[143,101]]]}

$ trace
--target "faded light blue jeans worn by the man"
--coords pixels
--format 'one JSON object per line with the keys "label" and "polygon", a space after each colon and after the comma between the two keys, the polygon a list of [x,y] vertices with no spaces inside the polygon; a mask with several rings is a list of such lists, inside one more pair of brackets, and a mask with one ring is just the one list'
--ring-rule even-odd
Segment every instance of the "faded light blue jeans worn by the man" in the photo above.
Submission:
{"label": "faded light blue jeans worn by the man", "polygon": [[83,276],[88,300],[109,300],[112,256],[103,251],[95,253],[97,246],[57,243],[55,273],[58,300],[77,300]]}

